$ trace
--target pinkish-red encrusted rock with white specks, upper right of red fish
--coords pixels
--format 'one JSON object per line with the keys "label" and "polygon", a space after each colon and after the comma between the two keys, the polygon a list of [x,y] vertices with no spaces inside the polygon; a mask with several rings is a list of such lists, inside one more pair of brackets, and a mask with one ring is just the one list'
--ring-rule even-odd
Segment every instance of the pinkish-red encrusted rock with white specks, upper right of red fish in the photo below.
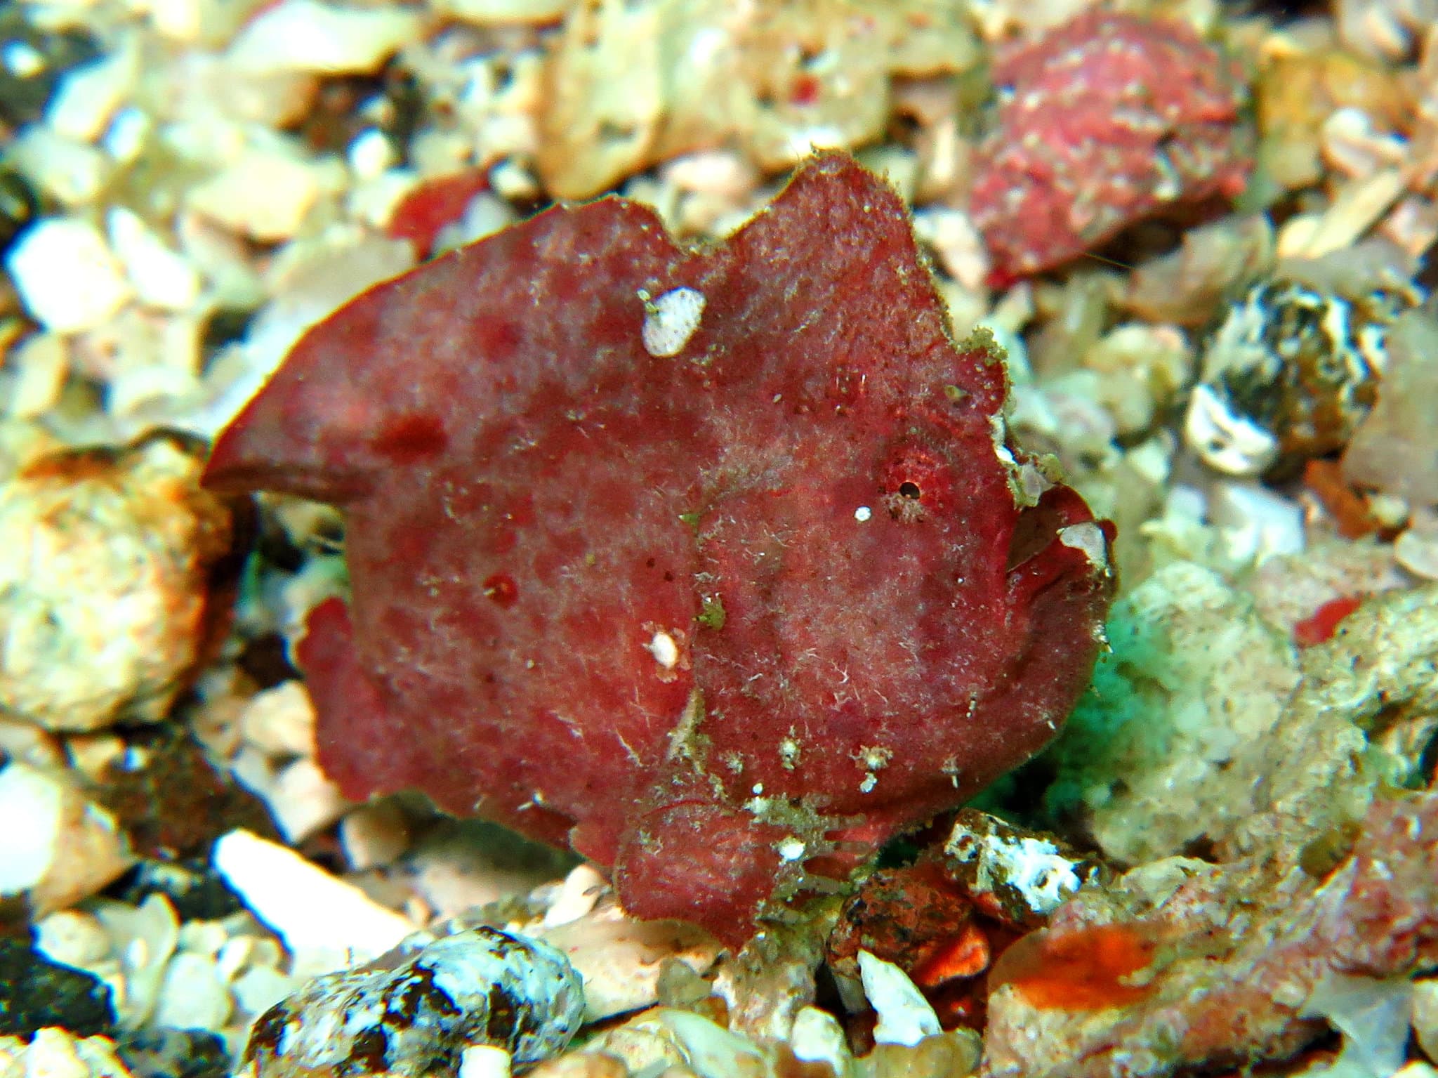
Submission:
{"label": "pinkish-red encrusted rock with white specks, upper right of red fish", "polygon": [[1089,10],[1002,56],[994,82],[969,210],[999,279],[1247,181],[1241,72],[1183,23]]}

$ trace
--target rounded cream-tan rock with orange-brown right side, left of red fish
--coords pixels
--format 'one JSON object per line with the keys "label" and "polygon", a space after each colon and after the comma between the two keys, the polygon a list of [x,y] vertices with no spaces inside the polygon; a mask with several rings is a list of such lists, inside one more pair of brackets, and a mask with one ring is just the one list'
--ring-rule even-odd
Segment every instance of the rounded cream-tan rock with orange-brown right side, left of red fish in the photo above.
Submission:
{"label": "rounded cream-tan rock with orange-brown right side, left of red fish", "polygon": [[230,548],[198,470],[161,436],[43,457],[0,487],[0,710],[49,730],[165,716]]}

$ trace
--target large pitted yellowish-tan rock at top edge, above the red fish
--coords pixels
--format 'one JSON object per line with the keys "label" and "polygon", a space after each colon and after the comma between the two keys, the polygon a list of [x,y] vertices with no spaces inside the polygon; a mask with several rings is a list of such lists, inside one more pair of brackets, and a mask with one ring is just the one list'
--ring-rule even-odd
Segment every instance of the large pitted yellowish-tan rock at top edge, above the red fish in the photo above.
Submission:
{"label": "large pitted yellowish-tan rock at top edge, above the red fish", "polygon": [[922,0],[584,0],[545,63],[536,164],[562,198],[731,139],[778,171],[880,138],[892,75],[976,57],[959,9]]}

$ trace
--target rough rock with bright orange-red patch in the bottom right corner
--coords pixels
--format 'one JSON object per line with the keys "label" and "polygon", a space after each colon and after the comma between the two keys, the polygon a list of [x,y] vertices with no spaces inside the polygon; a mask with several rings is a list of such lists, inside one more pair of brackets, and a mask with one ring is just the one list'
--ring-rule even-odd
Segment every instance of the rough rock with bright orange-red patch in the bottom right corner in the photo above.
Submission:
{"label": "rough rock with bright orange-red patch in the bottom right corner", "polygon": [[[1396,987],[1434,969],[1438,795],[1385,795],[1353,831],[1339,867],[1317,875],[1281,849],[1228,865],[1172,858],[1070,901],[995,966],[984,1072],[1241,1071],[1322,1036],[1311,1005],[1334,979]],[[1383,1051],[1380,1026],[1347,1028],[1375,1031],[1356,1044]]]}

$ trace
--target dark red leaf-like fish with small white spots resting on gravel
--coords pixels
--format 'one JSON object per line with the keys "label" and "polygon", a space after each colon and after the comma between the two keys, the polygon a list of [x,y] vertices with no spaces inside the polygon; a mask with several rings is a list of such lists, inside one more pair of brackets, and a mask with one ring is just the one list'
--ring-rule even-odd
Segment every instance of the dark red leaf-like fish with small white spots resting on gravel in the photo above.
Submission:
{"label": "dark red leaf-like fish with small white spots resting on gravel", "polygon": [[311,331],[207,482],[348,512],[299,648],[347,796],[417,788],[742,941],[1038,750],[1110,529],[1008,444],[846,157],[726,246],[557,207]]}

